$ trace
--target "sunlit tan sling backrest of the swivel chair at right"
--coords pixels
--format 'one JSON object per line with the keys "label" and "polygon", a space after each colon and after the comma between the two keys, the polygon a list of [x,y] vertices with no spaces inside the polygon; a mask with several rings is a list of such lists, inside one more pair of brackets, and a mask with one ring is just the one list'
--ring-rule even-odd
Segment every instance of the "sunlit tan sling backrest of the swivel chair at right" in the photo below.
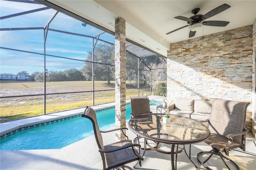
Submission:
{"label": "sunlit tan sling backrest of the swivel chair at right", "polygon": [[[250,103],[215,99],[209,121],[211,133],[226,136],[242,132],[245,127],[246,110]],[[233,141],[242,144],[242,136],[234,136]]]}

